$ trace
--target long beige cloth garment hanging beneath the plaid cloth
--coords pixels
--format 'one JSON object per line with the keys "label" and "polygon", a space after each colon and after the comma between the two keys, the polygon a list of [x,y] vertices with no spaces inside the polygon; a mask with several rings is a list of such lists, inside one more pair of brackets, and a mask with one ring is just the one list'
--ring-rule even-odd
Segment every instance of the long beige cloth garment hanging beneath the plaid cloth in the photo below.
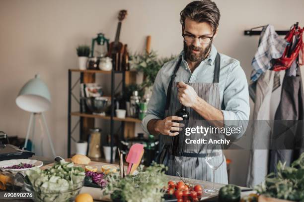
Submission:
{"label": "long beige cloth garment hanging beneath the plaid cloth", "polygon": [[[272,130],[270,122],[271,119],[270,105],[272,89],[274,85],[274,71],[267,70],[263,73],[256,82],[256,97],[253,110],[253,126],[252,126],[252,148],[250,150],[247,187],[254,187],[265,180],[268,172],[268,150],[255,150],[255,145],[269,145],[269,142],[259,142],[270,138]],[[262,121],[259,121],[262,120]],[[269,125],[268,125],[269,124]]]}

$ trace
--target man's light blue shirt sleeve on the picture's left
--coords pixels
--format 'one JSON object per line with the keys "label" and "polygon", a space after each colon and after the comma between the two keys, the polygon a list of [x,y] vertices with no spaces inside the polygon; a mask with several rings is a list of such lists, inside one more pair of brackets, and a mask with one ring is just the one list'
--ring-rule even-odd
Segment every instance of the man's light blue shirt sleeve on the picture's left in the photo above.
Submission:
{"label": "man's light blue shirt sleeve on the picture's left", "polygon": [[152,90],[152,96],[148,103],[148,109],[145,118],[142,122],[142,127],[147,134],[150,134],[148,131],[147,125],[151,119],[163,119],[165,112],[166,104],[166,91],[162,83],[162,71],[163,67],[158,71]]}

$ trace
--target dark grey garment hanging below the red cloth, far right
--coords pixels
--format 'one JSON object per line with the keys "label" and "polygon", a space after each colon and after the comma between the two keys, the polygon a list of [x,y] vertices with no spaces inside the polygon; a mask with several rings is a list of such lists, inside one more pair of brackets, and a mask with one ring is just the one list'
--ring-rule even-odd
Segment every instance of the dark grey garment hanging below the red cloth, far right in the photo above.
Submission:
{"label": "dark grey garment hanging below the red cloth, far right", "polygon": [[[302,66],[302,70],[303,70]],[[272,139],[277,139],[280,135],[288,134],[288,140],[294,144],[295,148],[303,148],[304,139],[304,93],[303,81],[301,76],[301,67],[297,69],[296,77],[284,76],[282,84],[281,101],[275,114],[275,120],[295,120],[293,127],[285,127],[283,124],[274,127]],[[286,162],[286,166],[290,166],[293,160],[297,159],[303,152],[302,150],[272,150],[270,151],[269,172],[276,172],[278,161]]]}

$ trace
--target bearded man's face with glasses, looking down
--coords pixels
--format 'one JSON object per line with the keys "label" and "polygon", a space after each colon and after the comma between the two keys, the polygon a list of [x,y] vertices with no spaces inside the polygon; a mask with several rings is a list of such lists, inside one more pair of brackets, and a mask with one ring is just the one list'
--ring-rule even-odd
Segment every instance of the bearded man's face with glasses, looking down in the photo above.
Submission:
{"label": "bearded man's face with glasses, looking down", "polygon": [[[184,51],[187,60],[191,62],[202,61],[206,58],[209,50],[211,49],[211,44],[201,44],[199,37],[212,37],[213,30],[212,27],[207,22],[195,22],[189,18],[185,19],[185,35],[192,35],[195,37],[193,42],[184,41]],[[213,36],[215,38],[217,32]]]}

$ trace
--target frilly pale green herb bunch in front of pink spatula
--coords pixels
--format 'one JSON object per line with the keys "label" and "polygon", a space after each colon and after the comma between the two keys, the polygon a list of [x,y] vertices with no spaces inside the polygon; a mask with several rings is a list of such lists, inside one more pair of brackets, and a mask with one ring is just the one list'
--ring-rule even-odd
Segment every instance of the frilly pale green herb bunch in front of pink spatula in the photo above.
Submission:
{"label": "frilly pale green herb bunch in front of pink spatula", "polygon": [[159,202],[164,195],[162,188],[167,184],[164,174],[166,167],[153,163],[146,170],[139,168],[138,175],[107,175],[108,186],[105,194],[110,194],[113,201],[121,202]]}

